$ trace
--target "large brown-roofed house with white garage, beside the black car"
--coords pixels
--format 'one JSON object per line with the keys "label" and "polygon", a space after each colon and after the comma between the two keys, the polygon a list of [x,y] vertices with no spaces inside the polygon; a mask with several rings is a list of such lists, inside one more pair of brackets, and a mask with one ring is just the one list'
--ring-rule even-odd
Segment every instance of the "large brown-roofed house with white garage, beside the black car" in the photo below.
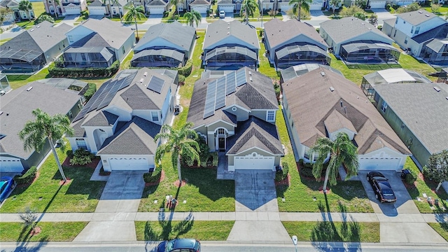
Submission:
{"label": "large brown-roofed house with white garage, beside the black car", "polygon": [[[385,85],[383,85],[385,86]],[[310,153],[321,137],[345,132],[358,148],[360,170],[400,171],[411,153],[358,85],[320,67],[282,84],[283,114],[296,160],[314,162]]]}

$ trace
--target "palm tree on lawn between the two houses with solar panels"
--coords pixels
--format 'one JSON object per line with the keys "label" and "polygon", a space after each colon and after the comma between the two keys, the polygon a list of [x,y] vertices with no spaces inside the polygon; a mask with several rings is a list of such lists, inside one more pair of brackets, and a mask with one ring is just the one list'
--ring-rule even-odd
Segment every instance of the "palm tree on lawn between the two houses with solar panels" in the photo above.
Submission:
{"label": "palm tree on lawn between the two houses with solar panels", "polygon": [[173,167],[177,166],[179,183],[182,183],[181,155],[188,155],[193,160],[196,160],[198,165],[200,164],[200,148],[197,141],[195,141],[197,133],[190,129],[192,126],[193,123],[186,123],[179,130],[176,130],[169,125],[163,125],[160,133],[154,137],[156,142],[159,139],[167,141],[165,144],[160,144],[157,151],[155,151],[155,163],[160,163],[165,153],[172,152],[172,165]]}

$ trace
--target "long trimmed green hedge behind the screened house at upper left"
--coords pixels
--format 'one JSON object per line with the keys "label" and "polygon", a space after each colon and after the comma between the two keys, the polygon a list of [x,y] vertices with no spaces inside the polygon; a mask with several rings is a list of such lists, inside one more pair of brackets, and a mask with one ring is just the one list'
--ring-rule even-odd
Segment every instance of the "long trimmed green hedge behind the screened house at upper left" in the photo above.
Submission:
{"label": "long trimmed green hedge behind the screened house at upper left", "polygon": [[108,68],[62,68],[55,66],[52,62],[48,66],[50,76],[59,78],[82,78],[82,77],[110,77],[120,68],[120,61],[116,60]]}

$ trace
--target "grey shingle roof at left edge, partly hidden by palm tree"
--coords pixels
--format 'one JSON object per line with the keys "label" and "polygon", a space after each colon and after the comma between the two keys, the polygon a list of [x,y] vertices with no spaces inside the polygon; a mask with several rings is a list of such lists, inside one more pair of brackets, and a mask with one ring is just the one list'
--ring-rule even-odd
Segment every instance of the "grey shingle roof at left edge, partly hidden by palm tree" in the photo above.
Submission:
{"label": "grey shingle roof at left edge, partly hidden by palm tree", "polygon": [[[29,87],[33,88],[27,91]],[[3,112],[0,114],[0,134],[6,136],[0,139],[0,153],[27,159],[34,151],[24,151],[18,132],[27,121],[35,119],[31,111],[41,109],[50,116],[57,113],[65,115],[76,105],[80,96],[51,85],[29,83],[3,94],[0,99],[0,111]]]}

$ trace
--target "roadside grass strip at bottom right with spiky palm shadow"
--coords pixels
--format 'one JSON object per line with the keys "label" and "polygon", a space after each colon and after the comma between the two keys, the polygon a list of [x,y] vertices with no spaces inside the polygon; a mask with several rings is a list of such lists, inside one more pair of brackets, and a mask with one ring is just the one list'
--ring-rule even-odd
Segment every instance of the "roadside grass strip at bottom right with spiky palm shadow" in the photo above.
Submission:
{"label": "roadside grass strip at bottom right with spiky palm shadow", "polygon": [[299,241],[379,242],[379,223],[282,221],[290,236]]}

